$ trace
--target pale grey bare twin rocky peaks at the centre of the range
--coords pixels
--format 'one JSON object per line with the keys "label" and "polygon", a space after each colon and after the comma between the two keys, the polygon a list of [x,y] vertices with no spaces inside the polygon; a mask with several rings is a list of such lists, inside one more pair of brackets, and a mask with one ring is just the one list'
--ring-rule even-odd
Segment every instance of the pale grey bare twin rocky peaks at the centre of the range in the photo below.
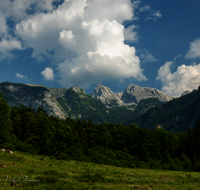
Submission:
{"label": "pale grey bare twin rocky peaks at the centre of the range", "polygon": [[98,84],[92,92],[92,97],[101,101],[107,107],[137,105],[140,100],[148,98],[158,98],[162,102],[167,102],[173,98],[160,90],[148,87],[139,87],[130,84],[124,92],[114,93],[108,87]]}

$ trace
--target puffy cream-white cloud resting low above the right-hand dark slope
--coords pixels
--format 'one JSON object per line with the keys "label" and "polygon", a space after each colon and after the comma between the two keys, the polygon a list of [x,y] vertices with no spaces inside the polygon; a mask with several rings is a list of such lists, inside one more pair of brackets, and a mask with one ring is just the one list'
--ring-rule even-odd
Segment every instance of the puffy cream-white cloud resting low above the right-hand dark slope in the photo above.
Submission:
{"label": "puffy cream-white cloud resting low above the right-hand dark slope", "polygon": [[170,96],[178,97],[184,91],[197,89],[200,84],[200,64],[181,65],[171,73],[173,62],[166,62],[158,71],[156,80],[161,80],[162,91]]}

